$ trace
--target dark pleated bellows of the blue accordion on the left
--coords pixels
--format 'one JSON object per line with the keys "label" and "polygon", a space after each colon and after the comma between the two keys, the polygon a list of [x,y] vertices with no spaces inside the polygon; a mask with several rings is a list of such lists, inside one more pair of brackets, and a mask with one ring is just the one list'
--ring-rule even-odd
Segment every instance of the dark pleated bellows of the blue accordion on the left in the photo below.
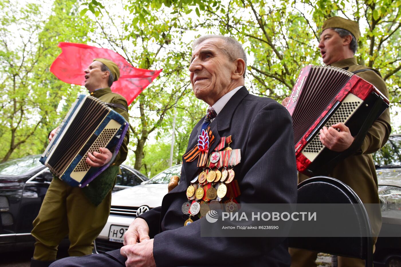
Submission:
{"label": "dark pleated bellows of the blue accordion on the left", "polygon": [[110,108],[95,97],[88,96],[83,100],[81,108],[77,111],[74,122],[67,129],[53,156],[49,159],[49,169],[56,175],[61,176],[71,163],[71,160],[79,153],[87,140],[97,129]]}

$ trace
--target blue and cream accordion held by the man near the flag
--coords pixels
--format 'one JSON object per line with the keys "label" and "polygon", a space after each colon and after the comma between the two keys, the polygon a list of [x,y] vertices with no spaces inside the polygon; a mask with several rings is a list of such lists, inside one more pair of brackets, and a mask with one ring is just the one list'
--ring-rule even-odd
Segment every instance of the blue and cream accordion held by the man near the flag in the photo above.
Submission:
{"label": "blue and cream accordion held by the man near the flag", "polygon": [[[105,103],[89,95],[79,95],[40,161],[71,186],[86,186],[115,159],[128,122]],[[105,166],[86,163],[88,152],[108,148],[113,157]]]}

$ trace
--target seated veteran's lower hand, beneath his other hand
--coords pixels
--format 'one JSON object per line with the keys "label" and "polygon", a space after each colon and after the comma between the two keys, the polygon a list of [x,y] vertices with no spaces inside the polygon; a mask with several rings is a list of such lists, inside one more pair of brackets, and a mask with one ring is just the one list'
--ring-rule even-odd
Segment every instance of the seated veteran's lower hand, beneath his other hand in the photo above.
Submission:
{"label": "seated veteran's lower hand, beneath his other hand", "polygon": [[153,257],[153,240],[145,240],[135,245],[126,245],[120,253],[127,257],[126,267],[154,267],[156,263]]}

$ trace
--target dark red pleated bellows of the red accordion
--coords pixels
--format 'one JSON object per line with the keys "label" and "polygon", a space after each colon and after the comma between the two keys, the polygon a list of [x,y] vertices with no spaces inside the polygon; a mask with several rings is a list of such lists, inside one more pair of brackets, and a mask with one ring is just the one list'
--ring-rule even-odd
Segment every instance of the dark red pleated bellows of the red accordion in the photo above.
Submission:
{"label": "dark red pleated bellows of the red accordion", "polygon": [[311,67],[292,114],[294,145],[302,139],[352,75],[337,67]]}

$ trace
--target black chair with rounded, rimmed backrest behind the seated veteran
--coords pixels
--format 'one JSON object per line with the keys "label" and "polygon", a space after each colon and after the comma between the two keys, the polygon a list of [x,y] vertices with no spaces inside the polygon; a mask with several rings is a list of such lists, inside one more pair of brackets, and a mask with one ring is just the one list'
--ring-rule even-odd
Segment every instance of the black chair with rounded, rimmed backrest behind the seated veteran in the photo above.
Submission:
{"label": "black chair with rounded, rimmed backrest behind the seated veteran", "polygon": [[[325,176],[309,178],[298,184],[298,203],[362,204],[355,192],[343,182]],[[373,266],[371,225],[365,207],[353,205],[355,216],[344,218],[360,231],[359,237],[290,237],[289,246],[332,255],[365,260]]]}

